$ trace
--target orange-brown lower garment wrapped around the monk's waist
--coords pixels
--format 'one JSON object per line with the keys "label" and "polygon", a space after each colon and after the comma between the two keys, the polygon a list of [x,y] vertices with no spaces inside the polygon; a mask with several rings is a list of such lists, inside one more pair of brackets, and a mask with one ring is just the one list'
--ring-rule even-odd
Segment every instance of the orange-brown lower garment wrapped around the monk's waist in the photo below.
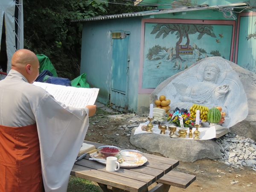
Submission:
{"label": "orange-brown lower garment wrapped around the monk's waist", "polygon": [[36,124],[0,125],[0,192],[44,191]]}

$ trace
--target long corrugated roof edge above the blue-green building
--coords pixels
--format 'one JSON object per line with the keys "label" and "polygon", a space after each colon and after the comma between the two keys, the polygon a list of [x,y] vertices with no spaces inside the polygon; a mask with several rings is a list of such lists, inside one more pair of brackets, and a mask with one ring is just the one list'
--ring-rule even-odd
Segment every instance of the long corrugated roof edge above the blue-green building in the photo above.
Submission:
{"label": "long corrugated roof edge above the blue-green building", "polygon": [[136,12],[136,13],[123,13],[119,15],[105,15],[99,17],[91,17],[87,19],[79,19],[79,20],[72,20],[71,22],[84,22],[84,21],[93,21],[93,20],[107,20],[107,19],[116,19],[116,18],[125,18],[125,17],[139,17],[139,16],[146,16],[146,15],[157,15],[157,14],[165,14],[165,13],[177,13],[177,12],[188,12],[188,11],[198,11],[198,10],[205,10],[205,9],[219,9],[219,8],[231,8],[231,7],[242,7],[249,6],[248,3],[232,3],[227,5],[220,5],[220,6],[208,6],[208,7],[181,7],[176,9],[157,9],[147,12]]}

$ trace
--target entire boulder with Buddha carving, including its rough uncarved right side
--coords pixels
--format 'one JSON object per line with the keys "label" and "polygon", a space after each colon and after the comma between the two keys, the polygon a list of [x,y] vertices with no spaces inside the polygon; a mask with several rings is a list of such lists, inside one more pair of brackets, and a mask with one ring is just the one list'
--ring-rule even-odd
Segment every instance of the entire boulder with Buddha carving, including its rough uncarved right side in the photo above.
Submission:
{"label": "entire boulder with Buddha carving, including its rough uncarved right side", "polygon": [[223,127],[256,141],[256,74],[221,57],[209,57],[159,84],[150,95],[171,100],[171,109],[193,103],[208,108],[221,106],[227,113]]}

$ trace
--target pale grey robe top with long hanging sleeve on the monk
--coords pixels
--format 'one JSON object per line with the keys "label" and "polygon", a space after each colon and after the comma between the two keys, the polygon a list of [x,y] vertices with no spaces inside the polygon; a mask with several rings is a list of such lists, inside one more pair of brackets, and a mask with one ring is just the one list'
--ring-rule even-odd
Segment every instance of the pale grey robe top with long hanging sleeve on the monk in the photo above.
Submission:
{"label": "pale grey robe top with long hanging sleeve on the monk", "polygon": [[46,192],[67,191],[68,180],[89,126],[88,108],[56,101],[16,70],[0,81],[0,125],[37,124]]}

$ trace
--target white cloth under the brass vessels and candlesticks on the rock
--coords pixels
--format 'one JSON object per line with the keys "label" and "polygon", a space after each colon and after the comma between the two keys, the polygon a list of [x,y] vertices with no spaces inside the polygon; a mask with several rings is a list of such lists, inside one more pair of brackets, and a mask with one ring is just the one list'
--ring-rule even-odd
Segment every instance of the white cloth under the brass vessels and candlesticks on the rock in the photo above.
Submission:
{"label": "white cloth under the brass vessels and candlesticks on the rock", "polygon": [[[138,128],[136,128],[135,132],[134,132],[134,135],[136,134],[143,134],[143,133],[150,133],[150,132],[147,132],[147,131],[142,131],[141,127],[143,125],[147,126],[149,123],[148,122],[145,122],[145,123],[142,123],[140,124],[140,126]],[[154,134],[160,134],[160,129],[158,128],[158,125],[153,125],[153,128],[151,129],[154,133]],[[166,125],[166,124],[163,124],[163,125]],[[170,131],[168,130],[168,125],[167,126],[167,129],[165,131],[165,134],[162,134],[162,135],[166,135],[169,137],[169,134],[170,134]],[[216,127],[219,129],[219,127],[221,127],[220,125],[216,125]],[[193,139],[193,137],[195,137],[194,135],[194,131],[195,131],[196,128],[192,128],[192,138],[188,138],[188,136],[186,136],[186,138],[177,138],[177,139]],[[179,131],[179,127],[177,127],[177,130],[175,131],[175,134],[179,135],[178,134],[178,131]],[[211,140],[213,138],[216,137],[216,128],[215,126],[212,126],[210,128],[198,128],[198,131],[200,131],[200,135],[199,135],[199,138],[200,140]],[[187,128],[187,134],[189,134],[189,128]],[[176,139],[176,138],[175,138]]]}

